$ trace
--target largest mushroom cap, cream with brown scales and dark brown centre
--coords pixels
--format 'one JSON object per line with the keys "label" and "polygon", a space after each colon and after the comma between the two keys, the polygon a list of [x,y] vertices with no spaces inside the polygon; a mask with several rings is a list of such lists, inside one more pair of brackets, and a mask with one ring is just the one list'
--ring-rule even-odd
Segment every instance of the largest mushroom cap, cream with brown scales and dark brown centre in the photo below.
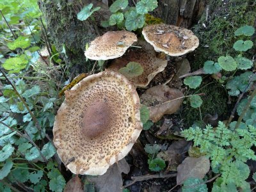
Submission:
{"label": "largest mushroom cap, cream with brown scales and dark brown centre", "polygon": [[109,71],[84,78],[65,96],[53,127],[58,155],[73,173],[102,175],[140,135],[138,93]]}

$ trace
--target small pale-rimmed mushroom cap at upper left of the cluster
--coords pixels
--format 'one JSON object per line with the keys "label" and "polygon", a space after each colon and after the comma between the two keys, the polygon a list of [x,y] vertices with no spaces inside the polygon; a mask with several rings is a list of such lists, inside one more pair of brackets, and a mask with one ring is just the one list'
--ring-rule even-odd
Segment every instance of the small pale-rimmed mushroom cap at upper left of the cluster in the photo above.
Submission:
{"label": "small pale-rimmed mushroom cap at upper left of the cluster", "polygon": [[95,38],[84,55],[90,60],[119,58],[136,41],[137,36],[130,31],[108,31]]}

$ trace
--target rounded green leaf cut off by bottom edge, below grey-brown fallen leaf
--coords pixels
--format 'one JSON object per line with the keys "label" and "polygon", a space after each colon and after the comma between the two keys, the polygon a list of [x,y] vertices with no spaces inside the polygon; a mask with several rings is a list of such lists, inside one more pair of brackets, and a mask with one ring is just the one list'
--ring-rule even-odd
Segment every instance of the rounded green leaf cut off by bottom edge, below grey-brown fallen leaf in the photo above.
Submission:
{"label": "rounded green leaf cut off by bottom edge, below grey-brown fallen leaf", "polygon": [[182,186],[182,192],[207,192],[207,186],[204,184],[204,180],[189,177],[186,179]]}

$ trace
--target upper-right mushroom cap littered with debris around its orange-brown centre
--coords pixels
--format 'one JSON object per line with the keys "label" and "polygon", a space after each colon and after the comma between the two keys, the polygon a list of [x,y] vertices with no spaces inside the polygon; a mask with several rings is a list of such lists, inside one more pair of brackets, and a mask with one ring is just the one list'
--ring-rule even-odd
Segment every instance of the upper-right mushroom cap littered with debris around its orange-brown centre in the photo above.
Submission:
{"label": "upper-right mushroom cap littered with debris around its orange-brown centre", "polygon": [[192,31],[172,25],[146,26],[142,34],[156,51],[163,51],[170,56],[181,56],[194,51],[199,45],[199,40]]}

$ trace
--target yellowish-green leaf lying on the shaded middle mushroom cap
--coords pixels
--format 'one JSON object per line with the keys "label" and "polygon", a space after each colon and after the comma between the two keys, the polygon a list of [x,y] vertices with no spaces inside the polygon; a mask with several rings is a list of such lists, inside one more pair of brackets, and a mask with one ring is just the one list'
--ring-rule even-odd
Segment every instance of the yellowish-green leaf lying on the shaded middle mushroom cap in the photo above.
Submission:
{"label": "yellowish-green leaf lying on the shaded middle mushroom cap", "polygon": [[119,72],[123,74],[125,77],[136,77],[140,76],[143,73],[143,68],[140,63],[129,62],[126,67],[122,67],[119,69]]}

